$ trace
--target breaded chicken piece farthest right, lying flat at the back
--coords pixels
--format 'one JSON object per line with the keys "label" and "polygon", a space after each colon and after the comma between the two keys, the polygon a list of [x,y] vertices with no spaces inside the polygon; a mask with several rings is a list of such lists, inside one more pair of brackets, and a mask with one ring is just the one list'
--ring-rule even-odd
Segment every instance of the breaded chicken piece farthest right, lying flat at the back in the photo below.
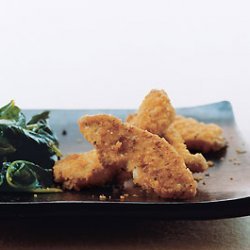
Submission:
{"label": "breaded chicken piece farthest right, lying flat at the back", "polygon": [[216,124],[205,124],[193,118],[176,116],[173,126],[181,134],[189,150],[208,153],[226,146],[223,130]]}

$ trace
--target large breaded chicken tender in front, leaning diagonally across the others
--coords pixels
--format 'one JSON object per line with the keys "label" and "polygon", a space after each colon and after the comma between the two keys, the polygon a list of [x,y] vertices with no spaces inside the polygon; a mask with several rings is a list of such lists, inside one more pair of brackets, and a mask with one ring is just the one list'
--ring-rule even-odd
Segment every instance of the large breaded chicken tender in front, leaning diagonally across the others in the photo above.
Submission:
{"label": "large breaded chicken tender in front, leaning diagonally across the others", "polygon": [[109,115],[84,116],[80,131],[106,166],[126,166],[133,181],[162,198],[189,199],[197,183],[183,158],[165,139]]}

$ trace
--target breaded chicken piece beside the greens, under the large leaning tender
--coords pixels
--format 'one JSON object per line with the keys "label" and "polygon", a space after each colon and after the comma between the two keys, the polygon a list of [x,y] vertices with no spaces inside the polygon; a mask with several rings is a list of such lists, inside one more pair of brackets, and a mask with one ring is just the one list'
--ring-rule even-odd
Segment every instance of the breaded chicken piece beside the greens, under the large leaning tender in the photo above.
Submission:
{"label": "breaded chicken piece beside the greens, under the large leaning tender", "polygon": [[61,183],[65,189],[76,191],[103,186],[112,181],[116,173],[114,168],[100,163],[96,150],[68,155],[55,164],[53,171],[55,182]]}

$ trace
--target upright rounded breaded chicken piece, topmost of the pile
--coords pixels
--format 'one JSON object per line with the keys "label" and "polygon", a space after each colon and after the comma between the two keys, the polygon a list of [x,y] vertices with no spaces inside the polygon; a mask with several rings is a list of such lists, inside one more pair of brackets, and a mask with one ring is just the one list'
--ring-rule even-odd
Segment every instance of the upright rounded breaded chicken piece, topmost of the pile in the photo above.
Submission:
{"label": "upright rounded breaded chicken piece, topmost of the pile", "polygon": [[137,114],[130,115],[127,122],[162,137],[174,118],[175,110],[166,92],[151,90],[144,98]]}

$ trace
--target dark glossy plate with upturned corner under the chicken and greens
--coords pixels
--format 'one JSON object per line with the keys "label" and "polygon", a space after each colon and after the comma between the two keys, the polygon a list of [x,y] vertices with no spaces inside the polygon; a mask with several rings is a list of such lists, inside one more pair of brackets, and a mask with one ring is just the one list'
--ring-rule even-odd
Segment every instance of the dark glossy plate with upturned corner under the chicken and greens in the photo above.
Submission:
{"label": "dark glossy plate with upturned corner under the chicken and greens", "polygon": [[[27,110],[29,117],[39,110]],[[57,134],[64,154],[91,149],[77,126],[85,114],[108,113],[124,118],[132,110],[52,110],[50,124]],[[120,200],[124,190],[116,187],[82,192],[52,194],[1,193],[1,216],[100,216],[166,219],[216,219],[250,215],[250,153],[237,130],[229,102],[177,109],[177,113],[204,122],[214,122],[224,129],[228,147],[207,155],[215,165],[198,174],[197,196],[188,201],[162,200],[133,190],[136,196]],[[100,201],[104,194],[107,200]]]}

